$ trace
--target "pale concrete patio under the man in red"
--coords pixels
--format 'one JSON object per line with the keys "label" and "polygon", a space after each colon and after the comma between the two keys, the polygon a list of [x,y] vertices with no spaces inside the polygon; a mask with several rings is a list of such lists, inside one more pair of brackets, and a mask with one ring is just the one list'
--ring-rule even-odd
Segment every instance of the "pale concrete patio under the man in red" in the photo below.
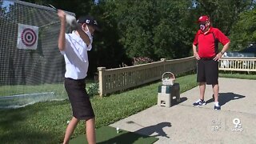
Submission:
{"label": "pale concrete patio under the man in red", "polygon": [[[219,85],[222,110],[214,110],[211,86],[206,86],[206,106],[192,106],[198,100],[196,87],[182,93],[178,105],[152,106],[110,126],[156,136],[155,144],[255,144],[256,80],[219,78]],[[238,119],[234,118],[240,120],[241,128],[235,128]]]}

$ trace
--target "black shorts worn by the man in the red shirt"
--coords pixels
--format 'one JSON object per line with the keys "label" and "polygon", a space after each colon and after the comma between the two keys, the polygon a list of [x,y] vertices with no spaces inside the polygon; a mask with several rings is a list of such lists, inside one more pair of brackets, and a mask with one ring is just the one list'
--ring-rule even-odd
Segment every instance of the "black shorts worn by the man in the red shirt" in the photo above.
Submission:
{"label": "black shorts worn by the man in the red shirt", "polygon": [[213,59],[198,60],[198,82],[206,82],[207,85],[218,84],[218,61]]}

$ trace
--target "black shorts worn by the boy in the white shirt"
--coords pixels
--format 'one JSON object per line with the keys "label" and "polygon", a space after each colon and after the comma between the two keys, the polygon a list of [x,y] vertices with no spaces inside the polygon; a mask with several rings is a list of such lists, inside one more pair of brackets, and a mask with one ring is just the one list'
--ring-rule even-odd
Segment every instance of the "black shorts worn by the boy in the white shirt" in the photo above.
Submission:
{"label": "black shorts worn by the boy in the white shirt", "polygon": [[74,118],[78,118],[78,120],[94,118],[94,110],[86,92],[85,79],[65,78],[64,85],[70,99]]}

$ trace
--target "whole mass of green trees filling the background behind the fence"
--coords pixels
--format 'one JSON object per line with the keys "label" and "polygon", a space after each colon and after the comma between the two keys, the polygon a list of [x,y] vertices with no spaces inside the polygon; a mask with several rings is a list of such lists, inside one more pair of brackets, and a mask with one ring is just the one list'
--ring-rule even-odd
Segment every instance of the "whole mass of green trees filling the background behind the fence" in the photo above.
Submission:
{"label": "whole mass of green trees filling the background behind the fence", "polygon": [[[118,67],[130,64],[134,57],[184,58],[192,53],[191,45],[202,14],[210,15],[214,27],[226,35],[241,31],[236,23],[239,14],[254,8],[254,0],[27,0],[41,5],[51,3],[77,16],[91,14],[102,32],[95,34],[94,49],[89,52],[90,70],[97,66]],[[242,16],[241,16],[242,18]],[[236,27],[233,27],[236,26]],[[234,32],[233,32],[234,31]],[[247,32],[246,34],[250,34]],[[240,42],[234,36],[231,44]],[[248,39],[248,38],[247,38]],[[237,44],[238,46],[239,44]],[[232,45],[233,46],[233,45]],[[232,47],[231,47],[232,48]]]}

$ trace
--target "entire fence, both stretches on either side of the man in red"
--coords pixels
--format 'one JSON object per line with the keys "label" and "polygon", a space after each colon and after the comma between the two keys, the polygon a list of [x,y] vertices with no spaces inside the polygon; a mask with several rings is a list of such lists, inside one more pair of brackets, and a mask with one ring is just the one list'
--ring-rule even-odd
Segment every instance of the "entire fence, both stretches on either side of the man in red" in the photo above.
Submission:
{"label": "entire fence, both stretches on either side of the man in red", "polygon": [[[98,67],[99,94],[102,96],[160,80],[167,71],[182,74],[195,69],[194,57],[174,60],[162,58],[159,62],[109,70]],[[256,71],[256,58],[222,57],[219,60],[219,70]]]}

